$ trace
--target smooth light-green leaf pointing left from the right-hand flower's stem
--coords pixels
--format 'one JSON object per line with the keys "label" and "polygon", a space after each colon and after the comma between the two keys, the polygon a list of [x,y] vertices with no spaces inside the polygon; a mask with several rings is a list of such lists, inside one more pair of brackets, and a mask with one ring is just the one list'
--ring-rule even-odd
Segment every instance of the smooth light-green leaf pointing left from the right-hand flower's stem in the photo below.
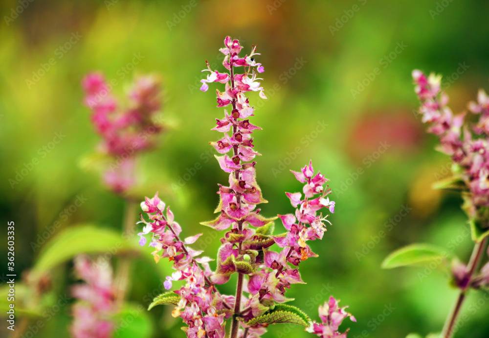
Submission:
{"label": "smooth light-green leaf pointing left from the right-hand flower's stem", "polygon": [[385,258],[382,268],[392,269],[398,266],[408,266],[433,260],[441,260],[447,256],[444,249],[430,244],[411,244],[400,248]]}

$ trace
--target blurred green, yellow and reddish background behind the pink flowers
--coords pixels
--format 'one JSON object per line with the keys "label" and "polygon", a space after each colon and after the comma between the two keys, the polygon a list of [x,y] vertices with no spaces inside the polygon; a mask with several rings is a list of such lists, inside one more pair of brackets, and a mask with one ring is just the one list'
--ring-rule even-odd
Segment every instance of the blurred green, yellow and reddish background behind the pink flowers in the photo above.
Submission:
{"label": "blurred green, yellow and reddish background behind the pink flowers", "polygon": [[[419,68],[444,74],[452,109],[464,110],[478,88],[488,87],[489,3],[196,0],[186,13],[190,2],[34,0],[18,13],[19,1],[2,1],[0,210],[2,229],[9,220],[16,223],[17,272],[35,266],[46,245],[38,235],[57,220],[61,226],[45,242],[78,223],[121,229],[124,201],[80,165],[99,141],[81,103],[80,80],[92,70],[118,80],[116,95],[125,93],[134,74],[160,74],[169,128],[158,149],[141,159],[141,198],[158,190],[183,234],[204,232],[210,244],[197,247],[205,247],[209,255],[216,252],[218,237],[199,222],[212,218],[217,183],[227,181],[208,145],[218,138],[210,129],[222,109],[215,108],[214,87],[210,93],[198,89],[204,61],[220,65],[218,48],[230,35],[242,41],[245,52],[258,45],[266,70],[262,84],[268,100],[250,96],[257,107],[253,123],[263,128],[254,141],[263,155],[257,160],[258,182],[269,201],[263,214],[292,210],[284,192],[301,187],[289,169],[312,159],[314,168],[331,179],[333,225],[323,241],[312,242],[320,257],[302,264],[308,284],[292,286],[292,304],[316,318],[317,306],[333,294],[356,315],[357,323],[342,327],[351,327],[349,337],[440,331],[456,295],[446,274],[425,267],[382,270],[380,264],[388,253],[411,242],[432,242],[468,259],[472,242],[460,197],[431,189],[447,175],[449,161],[434,150],[436,140],[425,134],[416,116],[410,73]],[[60,49],[72,36],[78,36],[76,43]],[[141,61],[128,67],[134,53]],[[35,78],[33,72],[39,74],[50,58],[56,63]],[[318,126],[321,131],[315,132]],[[55,133],[66,137],[41,156],[39,149]],[[39,164],[12,187],[9,179],[33,158]],[[178,185],[197,163],[201,169]],[[78,196],[86,201],[66,220],[61,218]],[[403,208],[409,212],[401,217]],[[385,237],[380,238],[382,230]],[[0,240],[1,261],[6,262],[6,231]],[[147,307],[171,272],[170,263],[156,265],[145,250],[131,255],[136,264],[129,299],[134,306]],[[117,264],[117,253],[112,262]],[[6,264],[0,271],[4,282]],[[69,296],[76,282],[72,263],[48,272],[52,282],[41,300],[35,302],[18,285],[18,307],[26,307],[22,318],[29,318],[23,325],[41,318],[45,325],[33,336],[69,337],[72,300],[49,319],[43,311],[56,309],[59,297]],[[223,291],[234,291],[228,289]],[[461,323],[458,337],[488,336],[489,305],[481,297],[475,292],[469,297],[464,308],[468,320]],[[138,312],[131,320],[133,335],[126,337],[140,337],[138,330],[148,337],[182,337],[180,322],[170,311],[157,307]],[[0,335],[7,335],[5,324]],[[310,337],[300,327],[280,325],[271,327],[268,337],[286,335]]]}

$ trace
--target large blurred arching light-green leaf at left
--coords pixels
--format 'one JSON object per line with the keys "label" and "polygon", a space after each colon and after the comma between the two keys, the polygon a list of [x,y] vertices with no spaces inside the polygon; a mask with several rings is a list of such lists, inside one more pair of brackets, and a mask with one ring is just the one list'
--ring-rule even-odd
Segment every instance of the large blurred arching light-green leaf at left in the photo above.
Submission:
{"label": "large blurred arching light-green leaf at left", "polygon": [[131,241],[123,240],[117,231],[86,224],[70,226],[43,247],[31,273],[41,275],[82,252],[121,254],[137,249]]}

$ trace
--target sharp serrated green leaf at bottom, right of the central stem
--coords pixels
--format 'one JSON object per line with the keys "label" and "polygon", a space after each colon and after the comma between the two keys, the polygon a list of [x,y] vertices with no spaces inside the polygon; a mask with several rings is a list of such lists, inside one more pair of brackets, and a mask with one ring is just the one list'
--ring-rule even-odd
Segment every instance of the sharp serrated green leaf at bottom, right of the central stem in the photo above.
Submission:
{"label": "sharp serrated green leaf at bottom, right of the central stem", "polygon": [[276,304],[273,310],[270,310],[267,313],[247,322],[242,319],[240,320],[249,326],[256,324],[292,323],[302,325],[304,327],[307,327],[310,321],[309,317],[304,312],[295,306],[286,304]]}

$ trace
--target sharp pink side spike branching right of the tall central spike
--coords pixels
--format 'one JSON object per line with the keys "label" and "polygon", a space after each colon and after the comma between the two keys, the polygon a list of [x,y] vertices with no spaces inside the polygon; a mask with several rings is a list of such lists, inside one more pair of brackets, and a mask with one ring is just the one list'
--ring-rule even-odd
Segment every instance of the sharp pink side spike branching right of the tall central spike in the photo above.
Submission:
{"label": "sharp pink side spike branching right of the tall central spike", "polygon": [[324,198],[331,193],[330,189],[323,187],[328,180],[320,172],[314,175],[312,163],[302,168],[301,172],[292,171],[292,173],[301,183],[306,183],[303,189],[305,196],[301,200],[301,193],[286,193],[292,206],[297,209],[295,216],[279,215],[287,233],[271,236],[274,243],[282,250],[274,252],[267,247],[262,247],[263,262],[255,261],[258,272],[249,278],[247,288],[250,298],[246,304],[253,310],[250,313],[252,316],[260,315],[260,310],[265,310],[263,307],[253,307],[253,305],[270,304],[270,301],[277,303],[288,301],[285,292],[290,285],[304,283],[297,266],[309,257],[317,257],[306,241],[322,239],[326,231],[323,223],[327,221],[326,217],[322,214],[318,216],[317,212],[324,207],[329,208],[331,212],[334,211],[334,202],[328,197]]}

